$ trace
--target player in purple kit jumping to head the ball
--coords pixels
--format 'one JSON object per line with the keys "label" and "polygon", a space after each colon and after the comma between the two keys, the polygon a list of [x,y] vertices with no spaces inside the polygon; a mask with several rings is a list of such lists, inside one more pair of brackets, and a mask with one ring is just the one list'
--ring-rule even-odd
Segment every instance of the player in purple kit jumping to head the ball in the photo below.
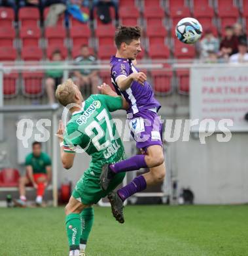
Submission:
{"label": "player in purple kit jumping to head the ball", "polygon": [[[166,175],[162,148],[162,123],[157,112],[160,103],[154,98],[147,76],[134,66],[137,54],[141,52],[141,29],[139,27],[121,26],[115,33],[117,52],[111,57],[111,79],[118,95],[122,95],[130,104],[127,110],[129,126],[137,148],[142,155],[136,155],[124,161],[104,165],[101,172],[101,187],[107,190],[109,182],[116,173],[134,171],[149,167],[149,173],[140,175],[132,182],[112,192],[111,198],[119,198],[113,213],[121,213],[123,202],[136,192],[145,190],[147,185],[162,182]],[[107,85],[99,87],[101,93],[116,95]],[[114,214],[115,215],[115,214]]]}

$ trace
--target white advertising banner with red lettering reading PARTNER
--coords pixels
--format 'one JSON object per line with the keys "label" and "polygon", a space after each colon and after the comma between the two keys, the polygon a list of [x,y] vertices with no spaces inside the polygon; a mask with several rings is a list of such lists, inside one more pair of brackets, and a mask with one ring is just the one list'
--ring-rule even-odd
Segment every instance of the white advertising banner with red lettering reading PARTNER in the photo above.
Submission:
{"label": "white advertising banner with red lettering reading PARTNER", "polygon": [[201,121],[209,121],[208,131],[223,131],[223,126],[230,131],[248,131],[247,112],[248,66],[190,68],[190,119],[196,124],[190,131],[206,131]]}

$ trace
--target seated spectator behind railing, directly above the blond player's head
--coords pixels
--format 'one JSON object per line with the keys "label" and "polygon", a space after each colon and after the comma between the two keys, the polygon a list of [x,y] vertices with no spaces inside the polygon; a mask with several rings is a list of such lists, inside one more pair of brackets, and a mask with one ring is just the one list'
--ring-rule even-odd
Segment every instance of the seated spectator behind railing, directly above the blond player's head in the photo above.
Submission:
{"label": "seated spectator behind railing, directly above the blond player's head", "polygon": [[86,91],[86,87],[91,87],[91,93],[98,93],[97,85],[99,84],[99,77],[96,70],[88,70],[84,68],[84,65],[94,65],[96,62],[96,57],[90,54],[90,50],[87,45],[82,45],[81,54],[75,58],[76,64],[80,65],[80,70],[74,73],[75,77],[73,80],[76,85],[80,88],[83,87]]}

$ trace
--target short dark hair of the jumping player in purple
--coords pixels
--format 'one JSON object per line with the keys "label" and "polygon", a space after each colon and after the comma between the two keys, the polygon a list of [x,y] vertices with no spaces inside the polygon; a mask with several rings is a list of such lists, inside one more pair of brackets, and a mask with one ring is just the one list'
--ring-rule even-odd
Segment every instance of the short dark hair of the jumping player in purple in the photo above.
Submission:
{"label": "short dark hair of the jumping player in purple", "polygon": [[137,40],[141,37],[141,28],[120,26],[115,32],[115,45],[120,49],[122,43],[130,44],[132,40]]}

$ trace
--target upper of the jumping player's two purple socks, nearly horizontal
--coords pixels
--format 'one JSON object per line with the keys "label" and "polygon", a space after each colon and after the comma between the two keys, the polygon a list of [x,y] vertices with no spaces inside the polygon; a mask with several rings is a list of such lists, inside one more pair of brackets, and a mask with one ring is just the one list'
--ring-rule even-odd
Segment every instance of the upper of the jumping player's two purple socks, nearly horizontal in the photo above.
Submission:
{"label": "upper of the jumping player's two purple socks, nearly horizontal", "polygon": [[132,158],[114,163],[110,167],[114,173],[122,173],[123,171],[135,171],[145,168],[147,167],[147,163],[145,162],[145,155],[136,155],[132,156]]}

